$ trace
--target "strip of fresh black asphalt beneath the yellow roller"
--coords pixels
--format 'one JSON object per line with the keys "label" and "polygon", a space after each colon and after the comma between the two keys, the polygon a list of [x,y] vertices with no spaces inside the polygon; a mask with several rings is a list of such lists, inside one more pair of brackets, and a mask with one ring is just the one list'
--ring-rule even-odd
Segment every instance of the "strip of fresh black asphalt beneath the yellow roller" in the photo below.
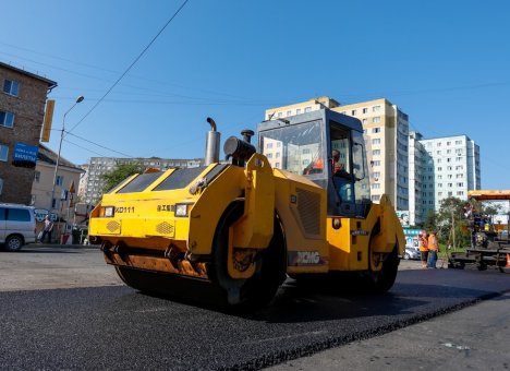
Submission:
{"label": "strip of fresh black asphalt beneath the yellow roller", "polygon": [[375,297],[288,280],[270,307],[250,315],[125,286],[3,291],[0,369],[260,369],[509,289],[510,274],[474,270],[404,270],[388,295]]}

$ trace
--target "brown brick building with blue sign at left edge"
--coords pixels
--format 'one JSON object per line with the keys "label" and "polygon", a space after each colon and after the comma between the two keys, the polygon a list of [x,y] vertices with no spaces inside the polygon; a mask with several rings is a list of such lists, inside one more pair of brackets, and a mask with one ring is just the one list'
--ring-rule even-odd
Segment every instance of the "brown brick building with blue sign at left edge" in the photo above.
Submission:
{"label": "brown brick building with blue sign at left edge", "polygon": [[0,202],[29,204],[48,93],[54,81],[0,62]]}

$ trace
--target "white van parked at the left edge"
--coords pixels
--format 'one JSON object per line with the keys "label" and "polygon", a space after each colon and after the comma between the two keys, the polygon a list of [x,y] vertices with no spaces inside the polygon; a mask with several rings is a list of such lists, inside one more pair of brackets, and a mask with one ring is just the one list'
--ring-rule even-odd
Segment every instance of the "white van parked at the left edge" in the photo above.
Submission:
{"label": "white van parked at the left edge", "polygon": [[34,207],[0,203],[0,246],[8,251],[19,251],[36,241]]}

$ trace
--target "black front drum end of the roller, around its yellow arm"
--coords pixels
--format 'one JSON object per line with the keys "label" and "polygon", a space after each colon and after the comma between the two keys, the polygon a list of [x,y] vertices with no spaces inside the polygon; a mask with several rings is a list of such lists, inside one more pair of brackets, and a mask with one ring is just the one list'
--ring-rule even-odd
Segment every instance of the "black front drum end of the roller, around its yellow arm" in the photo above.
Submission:
{"label": "black front drum end of the roller, around its yellow arm", "polygon": [[209,277],[226,295],[227,302],[238,309],[256,309],[267,304],[286,279],[284,238],[277,217],[269,247],[255,258],[255,273],[246,279],[230,277],[227,268],[229,227],[243,214],[242,203],[233,204],[218,225]]}

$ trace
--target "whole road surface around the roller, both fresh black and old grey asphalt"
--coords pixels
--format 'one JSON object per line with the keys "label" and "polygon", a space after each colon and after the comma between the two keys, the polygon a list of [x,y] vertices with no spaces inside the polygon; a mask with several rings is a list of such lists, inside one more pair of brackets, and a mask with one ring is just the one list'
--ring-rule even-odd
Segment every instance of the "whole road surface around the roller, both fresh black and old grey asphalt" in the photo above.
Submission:
{"label": "whole road surface around the roller, both fresh black and old grey asphalt", "polygon": [[[288,280],[270,307],[239,315],[122,286],[94,249],[0,253],[0,369],[439,369],[440,358],[429,361],[437,348],[464,356],[449,370],[509,368],[510,306],[501,294],[510,275],[418,264],[404,262],[385,296]],[[454,319],[457,333],[446,335]],[[493,362],[456,342],[462,331],[474,331],[478,349],[493,344]]]}

